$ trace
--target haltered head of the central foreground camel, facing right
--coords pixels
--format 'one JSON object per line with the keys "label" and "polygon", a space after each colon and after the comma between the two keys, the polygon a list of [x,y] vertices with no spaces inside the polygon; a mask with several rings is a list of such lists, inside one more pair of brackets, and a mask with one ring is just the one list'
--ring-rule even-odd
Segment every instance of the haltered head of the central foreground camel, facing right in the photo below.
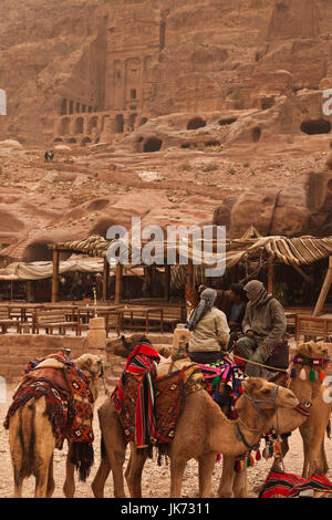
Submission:
{"label": "haltered head of the central foreground camel, facing right", "polygon": [[290,389],[282,386],[277,387],[274,383],[269,383],[262,377],[248,377],[242,382],[242,388],[247,397],[241,396],[238,401],[240,406],[242,399],[249,399],[253,406],[256,405],[261,410],[274,409],[279,406],[293,408],[299,404],[298,398]]}

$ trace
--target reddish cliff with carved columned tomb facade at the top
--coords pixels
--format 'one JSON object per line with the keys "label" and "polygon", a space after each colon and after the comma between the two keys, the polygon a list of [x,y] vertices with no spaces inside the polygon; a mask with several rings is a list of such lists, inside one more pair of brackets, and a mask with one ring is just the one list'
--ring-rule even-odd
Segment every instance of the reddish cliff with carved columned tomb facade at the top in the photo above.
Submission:
{"label": "reddish cliff with carved columned tomb facade at the top", "polygon": [[299,133],[332,84],[331,21],[325,0],[59,0],[56,15],[2,0],[0,138],[110,143],[165,114],[248,110],[240,139]]}

